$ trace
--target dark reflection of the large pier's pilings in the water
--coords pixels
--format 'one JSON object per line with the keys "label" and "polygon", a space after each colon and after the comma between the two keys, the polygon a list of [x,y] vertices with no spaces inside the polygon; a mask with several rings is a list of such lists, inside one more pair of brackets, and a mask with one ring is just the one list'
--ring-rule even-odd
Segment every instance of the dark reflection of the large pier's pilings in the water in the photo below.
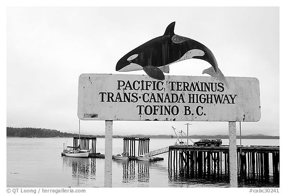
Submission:
{"label": "dark reflection of the large pier's pilings in the water", "polygon": [[[178,156],[178,157],[177,157]],[[194,187],[225,187],[229,183],[229,162],[227,157],[212,156],[206,154],[200,160],[200,153],[189,161],[188,153],[183,152],[174,156],[174,162],[170,163],[169,183],[192,184]],[[243,156],[241,156],[243,159]],[[176,161],[178,158],[178,161]],[[212,159],[211,159],[212,158]],[[239,187],[279,187],[279,163],[276,170],[270,168],[268,158],[263,162],[240,162],[238,160],[237,174]],[[246,159],[244,159],[246,160]]]}

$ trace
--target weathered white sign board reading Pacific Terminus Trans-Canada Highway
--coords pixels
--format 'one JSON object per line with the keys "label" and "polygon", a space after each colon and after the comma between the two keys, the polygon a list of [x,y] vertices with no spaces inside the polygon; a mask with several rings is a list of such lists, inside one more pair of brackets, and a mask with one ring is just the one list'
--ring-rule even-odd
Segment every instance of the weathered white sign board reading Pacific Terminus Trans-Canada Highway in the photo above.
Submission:
{"label": "weathered white sign board reading Pacific Terminus Trans-Canada Highway", "polygon": [[81,120],[259,121],[256,78],[82,74],[77,116]]}

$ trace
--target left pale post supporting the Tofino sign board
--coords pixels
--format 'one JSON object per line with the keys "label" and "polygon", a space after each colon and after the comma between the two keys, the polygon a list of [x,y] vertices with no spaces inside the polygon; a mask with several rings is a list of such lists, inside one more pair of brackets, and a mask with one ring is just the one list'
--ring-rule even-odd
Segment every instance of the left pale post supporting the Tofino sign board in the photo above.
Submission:
{"label": "left pale post supporting the Tofino sign board", "polygon": [[112,186],[112,121],[105,121],[104,187]]}

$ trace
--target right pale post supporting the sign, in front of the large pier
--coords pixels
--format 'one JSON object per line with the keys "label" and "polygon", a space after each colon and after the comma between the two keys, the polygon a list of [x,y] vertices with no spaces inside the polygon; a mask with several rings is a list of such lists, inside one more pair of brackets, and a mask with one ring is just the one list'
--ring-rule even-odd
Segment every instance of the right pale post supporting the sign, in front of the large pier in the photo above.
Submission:
{"label": "right pale post supporting the sign, in front of the large pier", "polygon": [[237,187],[237,153],[236,153],[236,123],[228,122],[229,130],[229,183],[230,187]]}

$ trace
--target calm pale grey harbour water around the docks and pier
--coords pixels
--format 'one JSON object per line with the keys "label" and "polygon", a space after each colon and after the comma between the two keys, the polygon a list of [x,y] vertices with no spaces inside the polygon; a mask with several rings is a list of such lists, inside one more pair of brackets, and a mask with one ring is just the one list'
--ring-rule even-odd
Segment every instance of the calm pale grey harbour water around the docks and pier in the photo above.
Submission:
{"label": "calm pale grey harbour water around the docks and pier", "polygon": [[[104,187],[104,159],[61,156],[63,144],[72,138],[7,138],[7,187]],[[193,140],[198,141],[198,139]],[[150,150],[173,145],[174,139],[151,139]],[[222,140],[228,144],[227,139]],[[237,140],[237,145],[240,141]],[[242,140],[242,145],[279,145],[279,140]],[[138,142],[136,143],[138,146]],[[122,153],[123,139],[113,139],[113,154]],[[104,154],[104,138],[97,138],[96,152]],[[136,152],[137,153],[137,152]],[[181,177],[168,171],[163,161],[118,161],[112,164],[112,187],[229,187],[229,178],[205,175]],[[271,157],[270,157],[271,158]],[[268,181],[239,180],[239,187],[279,187],[270,162]]]}

